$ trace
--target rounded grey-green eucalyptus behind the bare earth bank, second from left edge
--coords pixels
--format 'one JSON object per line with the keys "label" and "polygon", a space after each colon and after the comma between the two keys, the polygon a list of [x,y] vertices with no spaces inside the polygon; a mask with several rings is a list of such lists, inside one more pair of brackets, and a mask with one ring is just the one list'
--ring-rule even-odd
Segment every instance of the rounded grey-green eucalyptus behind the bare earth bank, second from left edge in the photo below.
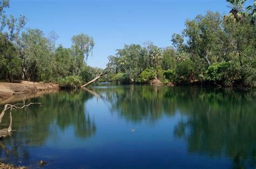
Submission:
{"label": "rounded grey-green eucalyptus behind the bare earth bank, second from left edge", "polygon": [[28,29],[19,39],[19,57],[22,60],[24,78],[50,81],[52,77],[52,46],[43,31]]}

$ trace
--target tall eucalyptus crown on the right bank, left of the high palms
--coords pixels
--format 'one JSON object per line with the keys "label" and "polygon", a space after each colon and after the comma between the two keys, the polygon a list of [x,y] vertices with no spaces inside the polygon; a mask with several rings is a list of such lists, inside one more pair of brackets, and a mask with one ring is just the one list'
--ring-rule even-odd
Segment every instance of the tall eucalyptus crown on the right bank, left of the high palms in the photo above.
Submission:
{"label": "tall eucalyptus crown on the right bank, left of the high palms", "polygon": [[186,50],[191,53],[192,60],[203,58],[210,66],[220,58],[219,37],[222,34],[221,16],[218,12],[208,11],[205,16],[198,15],[192,20],[187,20],[183,31],[187,39]]}

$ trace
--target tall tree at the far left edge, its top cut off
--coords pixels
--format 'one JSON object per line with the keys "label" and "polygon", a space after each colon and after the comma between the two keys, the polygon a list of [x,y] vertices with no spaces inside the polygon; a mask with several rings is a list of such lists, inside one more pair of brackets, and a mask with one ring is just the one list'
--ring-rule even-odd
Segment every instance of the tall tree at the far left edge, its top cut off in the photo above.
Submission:
{"label": "tall tree at the far left edge, its top cut off", "polygon": [[17,58],[15,41],[26,23],[26,18],[21,16],[6,15],[5,9],[9,8],[9,0],[0,1],[0,66],[1,79],[9,81],[12,78],[19,79],[21,75],[21,61]]}

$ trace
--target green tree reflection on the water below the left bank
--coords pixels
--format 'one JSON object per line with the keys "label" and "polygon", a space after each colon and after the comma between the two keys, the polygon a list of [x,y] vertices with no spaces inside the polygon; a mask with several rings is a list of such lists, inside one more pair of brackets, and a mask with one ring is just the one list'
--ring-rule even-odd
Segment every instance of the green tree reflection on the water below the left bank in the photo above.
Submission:
{"label": "green tree reflection on the water below the left bank", "polygon": [[[85,108],[90,98],[92,95],[86,92],[60,91],[26,100],[26,103],[41,102],[44,106],[38,108],[32,105],[22,110],[13,110],[13,129],[17,131],[0,142],[1,161],[28,160],[30,154],[26,146],[43,145],[49,137],[61,134],[56,131],[56,126],[60,131],[72,126],[75,136],[83,139],[95,135],[95,120]],[[5,126],[8,123],[6,116],[2,124]]]}

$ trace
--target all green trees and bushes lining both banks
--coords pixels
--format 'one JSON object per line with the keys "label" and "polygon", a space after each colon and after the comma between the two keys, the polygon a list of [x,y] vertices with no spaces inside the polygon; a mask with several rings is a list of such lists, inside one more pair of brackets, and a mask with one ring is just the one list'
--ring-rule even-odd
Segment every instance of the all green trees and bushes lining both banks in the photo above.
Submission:
{"label": "all green trees and bushes lining both banks", "polygon": [[[112,72],[103,81],[166,85],[255,86],[255,2],[227,0],[231,11],[186,20],[181,34],[173,34],[171,47],[151,42],[125,45],[109,57]],[[72,37],[72,46],[56,47],[57,34],[38,29],[21,32],[26,18],[5,15],[9,0],[0,2],[0,79],[59,82],[77,87],[98,71],[86,65],[94,41],[86,34]],[[167,35],[168,36],[168,35]],[[113,66],[114,65],[114,66]],[[73,81],[74,80],[74,81]],[[75,84],[75,85],[74,85]]]}

